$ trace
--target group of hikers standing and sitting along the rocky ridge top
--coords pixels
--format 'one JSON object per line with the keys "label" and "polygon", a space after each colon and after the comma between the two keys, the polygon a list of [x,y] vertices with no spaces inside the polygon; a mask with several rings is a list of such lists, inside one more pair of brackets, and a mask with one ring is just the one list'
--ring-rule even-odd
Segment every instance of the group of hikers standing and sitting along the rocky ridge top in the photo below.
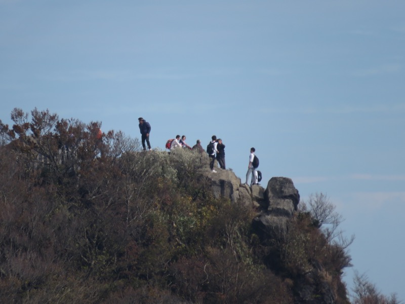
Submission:
{"label": "group of hikers standing and sitting along the rocky ridge top", "polygon": [[[139,130],[141,132],[141,142],[142,142],[142,148],[143,150],[146,151],[146,145],[148,150],[152,150],[149,142],[149,134],[150,134],[150,124],[146,122],[142,117],[138,119],[139,121]],[[225,167],[225,144],[223,144],[222,139],[218,138],[216,135],[213,135],[211,137],[211,141],[207,146],[207,149],[205,150],[203,146],[201,146],[201,141],[197,139],[197,142],[195,145],[190,147],[186,143],[186,136],[183,135],[180,137],[180,135],[177,135],[176,138],[169,139],[166,143],[166,148],[170,149],[173,151],[176,148],[188,148],[190,150],[195,150],[198,151],[201,154],[208,154],[208,157],[210,158],[210,169],[213,173],[217,173],[217,171],[214,169],[215,165],[215,160],[217,160],[219,166],[221,169],[226,170]],[[146,142],[146,143],[145,143]],[[249,155],[249,165],[248,165],[248,172],[246,173],[246,183],[248,184],[248,180],[250,175],[252,174],[252,180],[251,184],[259,184],[259,181],[261,179],[261,172],[257,170],[259,166],[259,159],[255,155],[256,149],[252,147],[250,149],[250,155]]]}

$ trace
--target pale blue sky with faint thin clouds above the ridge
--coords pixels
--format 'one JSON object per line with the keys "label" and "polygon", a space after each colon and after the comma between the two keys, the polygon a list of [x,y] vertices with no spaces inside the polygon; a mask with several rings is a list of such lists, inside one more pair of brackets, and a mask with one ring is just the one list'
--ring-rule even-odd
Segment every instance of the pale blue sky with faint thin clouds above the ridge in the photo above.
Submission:
{"label": "pale blue sky with faint thin clouds above the ridge", "polygon": [[0,119],[99,121],[154,149],[226,145],[245,180],[323,193],[355,235],[345,269],[405,300],[403,0],[0,0]]}

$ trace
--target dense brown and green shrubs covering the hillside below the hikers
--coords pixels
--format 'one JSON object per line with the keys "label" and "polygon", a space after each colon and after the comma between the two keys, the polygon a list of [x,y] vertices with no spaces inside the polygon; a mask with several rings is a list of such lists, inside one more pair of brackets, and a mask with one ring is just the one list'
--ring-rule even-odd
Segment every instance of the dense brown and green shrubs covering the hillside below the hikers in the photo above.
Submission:
{"label": "dense brown and green shrubs covering the hillside below the hikers", "polygon": [[310,202],[263,240],[255,210],[213,198],[205,156],[144,152],[48,110],[11,117],[0,121],[0,302],[294,303],[316,261],[313,280],[348,303],[347,243],[321,229],[339,221],[333,210]]}

